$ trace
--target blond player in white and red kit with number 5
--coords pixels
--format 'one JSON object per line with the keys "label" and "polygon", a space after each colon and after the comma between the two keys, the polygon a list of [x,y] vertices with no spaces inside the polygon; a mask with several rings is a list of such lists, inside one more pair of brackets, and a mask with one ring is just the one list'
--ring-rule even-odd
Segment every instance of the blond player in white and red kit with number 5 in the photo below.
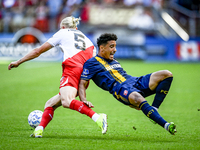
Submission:
{"label": "blond player in white and red kit with number 5", "polygon": [[91,108],[89,101],[76,100],[83,64],[96,54],[93,43],[78,30],[79,18],[66,17],[60,23],[60,30],[47,42],[33,49],[21,59],[11,62],[8,69],[18,67],[20,64],[40,56],[54,46],[60,46],[64,53],[62,62],[62,78],[60,80],[60,93],[50,98],[46,104],[41,123],[34,130],[31,137],[42,137],[43,130],[52,120],[56,108],[63,106],[76,110],[92,118],[101,128],[102,133],[107,131],[107,115],[97,114]]}

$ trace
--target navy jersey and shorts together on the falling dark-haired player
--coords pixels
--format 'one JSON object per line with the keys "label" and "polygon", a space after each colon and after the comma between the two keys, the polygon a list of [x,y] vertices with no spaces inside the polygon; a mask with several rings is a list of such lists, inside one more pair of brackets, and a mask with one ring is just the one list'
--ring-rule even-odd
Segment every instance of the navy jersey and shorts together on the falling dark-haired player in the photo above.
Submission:
{"label": "navy jersey and shorts together on the falling dark-haired player", "polygon": [[149,88],[149,78],[150,75],[145,80],[144,76],[130,76],[117,60],[107,60],[98,55],[85,62],[81,75],[82,80],[92,79],[97,86],[109,91],[126,105],[130,104],[128,96],[131,92],[144,94],[141,90]]}

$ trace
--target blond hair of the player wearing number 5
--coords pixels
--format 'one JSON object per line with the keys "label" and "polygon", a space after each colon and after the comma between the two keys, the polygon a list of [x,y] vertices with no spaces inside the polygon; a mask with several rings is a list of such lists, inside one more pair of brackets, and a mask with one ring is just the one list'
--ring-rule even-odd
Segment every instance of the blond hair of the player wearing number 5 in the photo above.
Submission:
{"label": "blond hair of the player wearing number 5", "polygon": [[66,17],[61,21],[60,28],[62,28],[63,26],[65,28],[76,28],[77,25],[79,24],[79,20],[81,20],[80,17],[79,18],[74,18],[73,16]]}

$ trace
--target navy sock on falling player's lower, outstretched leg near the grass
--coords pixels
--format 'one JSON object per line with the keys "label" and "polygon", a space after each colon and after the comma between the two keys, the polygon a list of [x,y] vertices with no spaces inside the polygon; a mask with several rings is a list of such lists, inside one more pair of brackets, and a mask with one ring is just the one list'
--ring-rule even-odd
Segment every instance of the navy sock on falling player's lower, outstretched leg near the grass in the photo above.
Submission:
{"label": "navy sock on falling player's lower, outstretched leg near the grass", "polygon": [[160,114],[152,107],[148,104],[147,101],[143,101],[142,103],[140,103],[139,108],[143,111],[143,113],[149,117],[150,119],[152,119],[153,121],[155,121],[156,123],[158,123],[160,126],[162,126],[164,128],[165,123],[167,123],[167,121],[165,121]]}

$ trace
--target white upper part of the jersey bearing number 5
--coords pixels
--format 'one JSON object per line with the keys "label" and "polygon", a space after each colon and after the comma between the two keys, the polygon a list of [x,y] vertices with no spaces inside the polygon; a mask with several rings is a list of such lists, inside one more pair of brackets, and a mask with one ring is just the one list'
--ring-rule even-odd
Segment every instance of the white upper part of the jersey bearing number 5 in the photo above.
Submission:
{"label": "white upper part of the jersey bearing number 5", "polygon": [[[59,46],[63,53],[63,62],[85,51],[87,48],[94,46],[93,43],[79,30],[60,29],[48,41],[52,46]],[[93,48],[93,56],[96,55],[96,48]]]}

